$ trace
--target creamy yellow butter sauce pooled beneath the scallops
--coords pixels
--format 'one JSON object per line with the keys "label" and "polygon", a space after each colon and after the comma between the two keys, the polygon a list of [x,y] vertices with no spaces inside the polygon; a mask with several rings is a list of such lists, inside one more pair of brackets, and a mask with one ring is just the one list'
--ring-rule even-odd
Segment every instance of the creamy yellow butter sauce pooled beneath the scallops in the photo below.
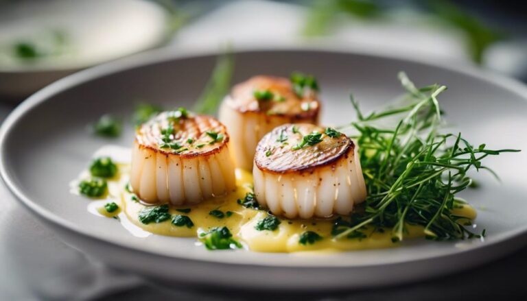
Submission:
{"label": "creamy yellow butter sauce pooled beneath the scallops", "polygon": [[[174,237],[198,237],[199,232],[207,232],[211,228],[226,226],[233,234],[233,239],[242,243],[248,250],[255,252],[298,252],[298,251],[343,251],[343,250],[364,250],[375,248],[390,248],[400,245],[391,241],[390,230],[375,230],[366,228],[361,230],[366,234],[362,239],[333,239],[331,228],[333,219],[310,219],[310,220],[288,220],[279,217],[281,224],[277,230],[256,230],[255,226],[261,219],[268,216],[266,210],[255,210],[245,208],[237,203],[243,199],[246,193],[252,192],[253,177],[247,171],[237,169],[236,180],[237,189],[230,195],[217,197],[207,200],[194,206],[180,206],[169,208],[169,213],[173,215],[186,215],[194,223],[194,226],[175,226],[168,219],[161,223],[143,224],[139,221],[139,212],[146,206],[137,200],[127,187],[129,166],[119,164],[119,175],[108,180],[108,199],[100,202],[99,213],[107,217],[114,217],[115,214],[104,213],[104,204],[108,200],[113,200],[119,204],[119,218],[121,224],[130,230],[133,224],[146,232],[154,234],[174,236]],[[190,209],[190,212],[180,212],[178,209]],[[224,214],[230,212],[230,216],[225,215],[222,219],[210,215],[211,210],[221,210]],[[454,209],[456,215],[476,218],[476,210],[471,206],[465,205]],[[91,210],[93,211],[93,210]],[[117,214],[116,213],[116,214]],[[419,226],[407,225],[408,234],[406,237],[423,237],[423,228]],[[313,244],[303,245],[299,243],[301,234],[305,231],[314,231],[323,237],[322,240]]]}

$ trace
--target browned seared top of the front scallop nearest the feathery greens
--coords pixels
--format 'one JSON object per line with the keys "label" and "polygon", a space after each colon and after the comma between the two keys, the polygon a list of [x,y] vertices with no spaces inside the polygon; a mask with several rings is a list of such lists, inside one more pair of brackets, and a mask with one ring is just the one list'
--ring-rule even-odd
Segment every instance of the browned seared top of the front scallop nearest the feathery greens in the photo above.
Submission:
{"label": "browned seared top of the front scallop nearest the feathery greens", "polygon": [[[255,163],[260,170],[274,173],[312,171],[317,167],[331,165],[340,158],[353,156],[355,145],[344,134],[331,137],[326,128],[308,123],[285,124],[274,128],[258,143]],[[314,141],[303,143],[303,138],[315,133]]]}

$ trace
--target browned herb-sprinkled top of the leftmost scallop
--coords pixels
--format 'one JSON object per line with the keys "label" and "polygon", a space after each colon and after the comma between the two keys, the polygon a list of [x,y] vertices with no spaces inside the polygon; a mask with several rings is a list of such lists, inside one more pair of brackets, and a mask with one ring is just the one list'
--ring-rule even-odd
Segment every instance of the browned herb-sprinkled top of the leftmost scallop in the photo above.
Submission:
{"label": "browned herb-sprinkled top of the leftmost scallop", "polygon": [[135,135],[139,147],[191,158],[216,154],[229,142],[225,126],[213,117],[189,113],[176,118],[175,112],[162,112],[143,123]]}

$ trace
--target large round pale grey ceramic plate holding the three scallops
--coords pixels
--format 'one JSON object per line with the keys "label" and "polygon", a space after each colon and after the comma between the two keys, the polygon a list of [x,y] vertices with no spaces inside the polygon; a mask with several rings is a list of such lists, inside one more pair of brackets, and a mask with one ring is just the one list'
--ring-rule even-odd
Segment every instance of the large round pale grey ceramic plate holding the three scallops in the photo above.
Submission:
{"label": "large round pale grey ceramic plate holding the three scallops", "polygon": [[[475,175],[481,188],[462,196],[478,208],[484,241],[409,241],[401,248],[335,254],[209,252],[195,239],[132,236],[113,219],[86,212],[89,201],[68,183],[102,145],[132,143],[132,127],[115,141],[92,136],[86,125],[106,112],[129,117],[148,99],[165,107],[190,106],[203,88],[214,54],[174,56],[155,51],[71,75],[27,99],[5,121],[0,136],[1,176],[11,191],[61,237],[114,267],[168,282],[273,288],[329,289],[422,280],[487,262],[524,244],[527,230],[527,156],[504,154]],[[490,147],[527,149],[527,88],[475,69],[441,67],[380,54],[283,49],[236,53],[234,82],[259,73],[316,75],[322,87],[323,122],[351,121],[348,95],[364,110],[401,93],[397,71],[418,85],[446,84],[447,119],[468,139]]]}

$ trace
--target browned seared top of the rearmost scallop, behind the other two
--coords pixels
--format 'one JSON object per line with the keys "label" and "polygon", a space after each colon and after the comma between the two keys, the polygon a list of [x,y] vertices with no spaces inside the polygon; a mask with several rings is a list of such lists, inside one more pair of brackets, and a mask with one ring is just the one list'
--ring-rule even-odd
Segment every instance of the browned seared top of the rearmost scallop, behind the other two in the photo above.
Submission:
{"label": "browned seared top of the rearmost scallop, behind the other two", "polygon": [[[272,99],[259,101],[255,91],[269,91]],[[318,115],[320,103],[316,91],[308,91],[303,97],[294,93],[290,80],[284,77],[258,75],[234,86],[225,99],[231,108],[242,112],[265,112],[266,115],[288,117],[292,121],[313,119]]]}

